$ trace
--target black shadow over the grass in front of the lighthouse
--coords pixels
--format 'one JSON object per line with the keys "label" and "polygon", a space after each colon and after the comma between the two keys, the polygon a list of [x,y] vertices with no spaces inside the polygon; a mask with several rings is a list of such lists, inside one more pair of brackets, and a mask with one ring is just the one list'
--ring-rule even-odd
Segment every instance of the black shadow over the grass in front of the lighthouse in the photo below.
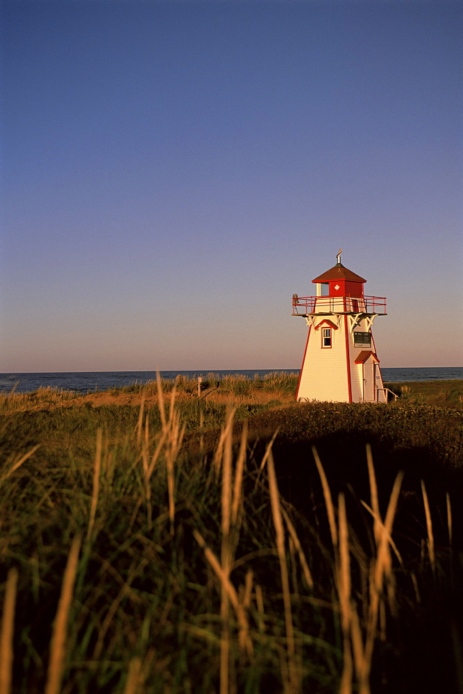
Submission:
{"label": "black shadow over the grass in front of the lighthouse", "polygon": [[[387,641],[378,643],[373,662],[371,691],[460,691],[458,663],[463,644],[463,470],[446,468],[426,446],[400,446],[394,440],[372,436],[368,430],[353,434],[338,430],[310,440],[273,444],[278,486],[283,498],[301,517],[301,532],[312,534],[330,547],[323,493],[314,464],[312,446],[330,484],[333,502],[346,497],[353,556],[371,553],[371,520],[362,500],[371,504],[366,443],[371,445],[378,482],[382,518],[396,475],[404,471],[401,497],[394,519],[394,541],[403,565],[396,572],[398,618],[391,620]],[[253,456],[262,459],[264,445]],[[426,485],[437,556],[435,572],[428,561],[426,516],[421,480]],[[449,546],[446,493],[453,514],[453,548]],[[420,559],[421,557],[421,559]],[[352,559],[354,561],[354,559]],[[355,570],[354,570],[355,573]],[[413,584],[419,577],[419,593]],[[460,661],[461,663],[461,661]],[[460,677],[460,682],[459,682]],[[387,684],[386,684],[387,683]]]}

